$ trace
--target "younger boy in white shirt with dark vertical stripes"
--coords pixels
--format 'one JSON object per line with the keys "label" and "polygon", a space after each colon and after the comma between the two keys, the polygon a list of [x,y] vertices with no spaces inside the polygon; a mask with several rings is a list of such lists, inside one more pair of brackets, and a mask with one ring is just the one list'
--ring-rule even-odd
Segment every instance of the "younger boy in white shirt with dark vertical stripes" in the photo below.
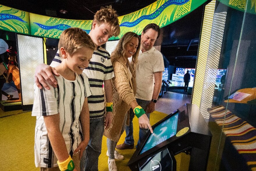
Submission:
{"label": "younger boy in white shirt with dark vertical stripes", "polygon": [[91,90],[83,70],[95,45],[80,28],[69,28],[61,34],[58,48],[62,59],[55,68],[60,74],[58,86],[49,90],[34,87],[35,165],[41,171],[80,171],[80,158],[90,136],[87,97]]}

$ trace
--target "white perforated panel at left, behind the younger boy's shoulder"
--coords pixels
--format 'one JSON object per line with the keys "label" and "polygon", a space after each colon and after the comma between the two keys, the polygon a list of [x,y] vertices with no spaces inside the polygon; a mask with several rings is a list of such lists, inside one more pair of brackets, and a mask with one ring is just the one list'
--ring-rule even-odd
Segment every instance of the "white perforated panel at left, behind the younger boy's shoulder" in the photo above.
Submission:
{"label": "white perforated panel at left, behind the younger boy's shoulder", "polygon": [[18,34],[19,72],[22,91],[22,105],[34,102],[35,68],[44,63],[43,41],[39,37]]}

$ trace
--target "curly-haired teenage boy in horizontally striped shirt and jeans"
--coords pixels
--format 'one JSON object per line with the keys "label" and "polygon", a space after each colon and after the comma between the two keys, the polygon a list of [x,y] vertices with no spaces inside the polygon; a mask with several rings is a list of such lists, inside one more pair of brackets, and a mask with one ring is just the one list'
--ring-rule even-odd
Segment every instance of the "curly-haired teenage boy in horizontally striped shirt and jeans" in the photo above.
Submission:
{"label": "curly-haired teenage boy in horizontally striped shirt and jeans", "polygon": [[[97,50],[93,53],[89,67],[83,70],[89,79],[92,91],[92,96],[88,98],[90,110],[90,141],[81,159],[81,168],[84,166],[86,171],[98,170],[98,158],[101,153],[104,125],[107,129],[112,121],[111,111],[107,111],[104,114],[105,106],[102,85],[104,82],[106,102],[107,104],[111,104],[113,95],[111,79],[114,77],[114,73],[109,53],[100,46],[106,43],[110,37],[118,36],[119,33],[119,21],[115,10],[111,7],[105,7],[96,12],[89,35],[95,46],[97,46]],[[61,59],[57,52],[51,66],[54,67],[60,63]],[[52,67],[40,64],[36,68],[35,81],[39,88],[42,88],[41,83],[45,88],[49,89],[46,80],[50,85],[56,87],[57,82],[52,73],[56,76],[59,76],[59,74]]]}

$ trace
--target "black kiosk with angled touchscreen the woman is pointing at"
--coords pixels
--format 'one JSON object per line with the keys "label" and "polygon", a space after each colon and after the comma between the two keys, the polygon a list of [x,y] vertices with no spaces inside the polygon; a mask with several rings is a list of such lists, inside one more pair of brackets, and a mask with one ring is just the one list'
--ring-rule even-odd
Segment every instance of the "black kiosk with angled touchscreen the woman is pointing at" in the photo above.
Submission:
{"label": "black kiosk with angled touchscreen the woman is pointing at", "polygon": [[195,104],[185,104],[152,126],[128,162],[132,171],[176,170],[174,155],[190,154],[189,170],[206,170],[211,133]]}

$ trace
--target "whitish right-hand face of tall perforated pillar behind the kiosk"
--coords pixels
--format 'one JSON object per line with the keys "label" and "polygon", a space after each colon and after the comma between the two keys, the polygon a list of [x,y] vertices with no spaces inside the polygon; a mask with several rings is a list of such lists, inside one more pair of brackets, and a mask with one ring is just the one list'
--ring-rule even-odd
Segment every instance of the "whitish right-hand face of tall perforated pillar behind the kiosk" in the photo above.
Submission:
{"label": "whitish right-hand face of tall perforated pillar behind the kiosk", "polygon": [[216,81],[219,59],[221,55],[226,15],[227,12],[215,13],[212,24],[204,85],[202,89],[202,98],[200,102],[200,111],[203,117],[206,119],[209,119],[209,113],[207,112],[207,108],[211,108],[213,102],[214,86]]}

